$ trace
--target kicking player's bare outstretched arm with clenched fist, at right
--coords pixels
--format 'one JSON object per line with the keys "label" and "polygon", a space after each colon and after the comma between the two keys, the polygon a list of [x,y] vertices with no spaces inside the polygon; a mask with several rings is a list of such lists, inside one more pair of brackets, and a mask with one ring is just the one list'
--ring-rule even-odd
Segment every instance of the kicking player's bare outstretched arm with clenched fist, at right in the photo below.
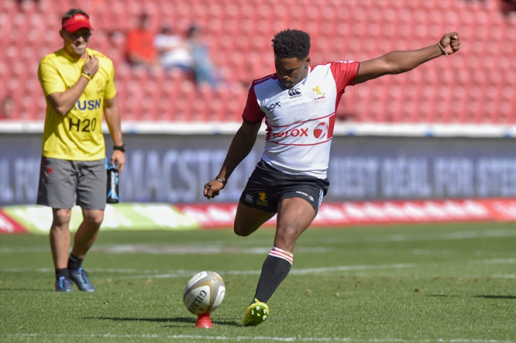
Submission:
{"label": "kicking player's bare outstretched arm with clenched fist, at right", "polygon": [[440,41],[427,48],[409,51],[393,51],[376,59],[363,61],[358,67],[355,84],[376,79],[387,74],[400,74],[435,59],[450,55],[459,50],[460,39],[457,32],[444,34]]}

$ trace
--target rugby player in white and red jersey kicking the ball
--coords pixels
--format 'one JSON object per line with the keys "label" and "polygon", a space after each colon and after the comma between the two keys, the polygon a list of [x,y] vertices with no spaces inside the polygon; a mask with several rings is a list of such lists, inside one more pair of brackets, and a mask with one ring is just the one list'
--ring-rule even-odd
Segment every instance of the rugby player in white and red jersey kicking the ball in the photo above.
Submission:
{"label": "rugby player in white and red jersey kicking the ball", "polygon": [[[389,52],[369,61],[328,62],[310,67],[310,36],[284,30],[272,39],[276,73],[253,81],[244,121],[230,144],[216,178],[204,185],[204,196],[219,194],[255,144],[266,118],[264,154],[242,192],[235,214],[235,233],[249,236],[277,214],[274,245],[265,259],[254,301],[244,325],[264,322],[266,302],[283,282],[294,260],[297,239],[314,220],[327,193],[327,167],[336,107],[348,85],[386,74],[408,72],[418,65],[459,50],[456,32],[438,43],[411,51]],[[442,70],[453,77],[453,70]]]}

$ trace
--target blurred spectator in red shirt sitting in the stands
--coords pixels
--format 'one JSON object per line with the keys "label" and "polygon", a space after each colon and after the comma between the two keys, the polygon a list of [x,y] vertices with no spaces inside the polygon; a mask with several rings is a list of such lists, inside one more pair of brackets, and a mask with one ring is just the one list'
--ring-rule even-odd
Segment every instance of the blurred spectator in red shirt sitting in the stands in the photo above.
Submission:
{"label": "blurred spectator in red shirt sitting in the stands", "polygon": [[149,69],[159,66],[153,43],[154,36],[154,32],[151,31],[149,14],[140,14],[136,28],[127,32],[125,56],[131,66]]}

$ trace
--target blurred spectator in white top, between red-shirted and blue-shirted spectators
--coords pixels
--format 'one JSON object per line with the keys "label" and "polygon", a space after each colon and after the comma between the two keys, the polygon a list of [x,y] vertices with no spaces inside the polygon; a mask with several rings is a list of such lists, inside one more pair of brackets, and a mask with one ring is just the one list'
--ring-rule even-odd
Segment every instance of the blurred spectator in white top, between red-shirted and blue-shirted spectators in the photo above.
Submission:
{"label": "blurred spectator in white top, between red-shirted and blue-shirted spectators", "polygon": [[193,58],[186,41],[175,34],[169,25],[164,25],[154,40],[164,70],[180,70],[192,74]]}

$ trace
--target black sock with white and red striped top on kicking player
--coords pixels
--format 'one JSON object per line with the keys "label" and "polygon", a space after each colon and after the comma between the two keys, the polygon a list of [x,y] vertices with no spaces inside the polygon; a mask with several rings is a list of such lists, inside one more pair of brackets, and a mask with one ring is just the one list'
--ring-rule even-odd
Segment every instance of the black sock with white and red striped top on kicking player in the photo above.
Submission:
{"label": "black sock with white and red striped top on kicking player", "polygon": [[268,302],[272,293],[276,291],[279,284],[285,280],[294,256],[292,253],[274,247],[267,258],[264,266],[261,267],[261,276],[255,293],[255,298],[261,302]]}

